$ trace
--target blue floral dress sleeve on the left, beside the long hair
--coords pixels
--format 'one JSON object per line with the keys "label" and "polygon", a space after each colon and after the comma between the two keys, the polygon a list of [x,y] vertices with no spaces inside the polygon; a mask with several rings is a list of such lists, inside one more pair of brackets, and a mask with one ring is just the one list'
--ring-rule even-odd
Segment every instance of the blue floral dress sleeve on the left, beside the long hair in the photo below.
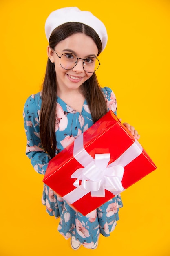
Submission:
{"label": "blue floral dress sleeve on the left, beside the long hair", "polygon": [[[38,104],[37,94],[31,95],[23,111],[24,128],[27,137],[26,155],[31,159],[31,164],[36,172],[45,174],[50,157],[42,148],[40,140],[40,105]],[[40,99],[40,96],[39,96]]]}

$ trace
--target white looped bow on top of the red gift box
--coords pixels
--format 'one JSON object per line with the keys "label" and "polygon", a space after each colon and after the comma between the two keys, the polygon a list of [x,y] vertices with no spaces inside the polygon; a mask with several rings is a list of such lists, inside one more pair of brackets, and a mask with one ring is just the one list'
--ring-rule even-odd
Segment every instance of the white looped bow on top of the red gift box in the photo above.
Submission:
{"label": "white looped bow on top of the red gift box", "polygon": [[121,165],[107,167],[109,161],[110,154],[95,154],[95,159],[71,175],[71,178],[77,178],[74,186],[90,191],[91,196],[97,197],[105,197],[105,189],[111,192],[123,191],[121,180],[124,168]]}

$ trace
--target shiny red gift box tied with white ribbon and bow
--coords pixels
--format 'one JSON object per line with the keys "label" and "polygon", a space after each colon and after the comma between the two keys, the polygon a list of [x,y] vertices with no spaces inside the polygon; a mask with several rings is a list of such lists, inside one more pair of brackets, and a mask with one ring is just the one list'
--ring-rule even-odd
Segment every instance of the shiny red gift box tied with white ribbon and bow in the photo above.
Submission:
{"label": "shiny red gift box tied with white ribbon and bow", "polygon": [[87,215],[156,168],[110,110],[50,160],[43,182]]}

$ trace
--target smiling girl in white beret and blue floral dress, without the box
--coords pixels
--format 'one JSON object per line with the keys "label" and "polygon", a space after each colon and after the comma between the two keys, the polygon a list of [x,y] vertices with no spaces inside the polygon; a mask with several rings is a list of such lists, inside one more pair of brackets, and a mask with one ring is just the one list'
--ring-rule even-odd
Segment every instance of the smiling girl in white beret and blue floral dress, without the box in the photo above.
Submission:
{"label": "smiling girl in white beret and blue floral dress, without the box", "polygon": [[[117,110],[113,91],[101,88],[95,74],[98,56],[107,43],[104,24],[90,12],[67,7],[49,15],[45,31],[49,46],[42,91],[31,95],[24,106],[26,155],[41,174],[50,159],[108,110]],[[139,139],[133,126],[124,125]],[[83,216],[45,184],[42,203],[49,215],[60,216],[58,231],[66,239],[71,237],[73,249],[81,245],[96,249],[99,234],[110,235],[122,207],[117,195],[93,214]]]}

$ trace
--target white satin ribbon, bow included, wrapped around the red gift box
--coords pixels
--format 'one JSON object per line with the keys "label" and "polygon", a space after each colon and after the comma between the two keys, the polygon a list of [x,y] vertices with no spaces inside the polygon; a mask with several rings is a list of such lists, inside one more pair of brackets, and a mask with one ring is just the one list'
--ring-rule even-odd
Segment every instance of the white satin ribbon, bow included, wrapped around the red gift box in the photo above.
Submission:
{"label": "white satin ribbon, bow included, wrapped around the red gift box", "polygon": [[[118,195],[124,191],[122,178],[124,167],[142,153],[142,146],[135,139],[134,143],[114,162],[108,165],[110,154],[95,154],[95,159],[84,148],[83,134],[74,142],[73,156],[84,168],[77,169],[71,178],[76,178],[76,189],[66,194],[63,198],[73,204],[84,195],[104,197],[105,189]],[[81,185],[79,184],[82,181]]]}

